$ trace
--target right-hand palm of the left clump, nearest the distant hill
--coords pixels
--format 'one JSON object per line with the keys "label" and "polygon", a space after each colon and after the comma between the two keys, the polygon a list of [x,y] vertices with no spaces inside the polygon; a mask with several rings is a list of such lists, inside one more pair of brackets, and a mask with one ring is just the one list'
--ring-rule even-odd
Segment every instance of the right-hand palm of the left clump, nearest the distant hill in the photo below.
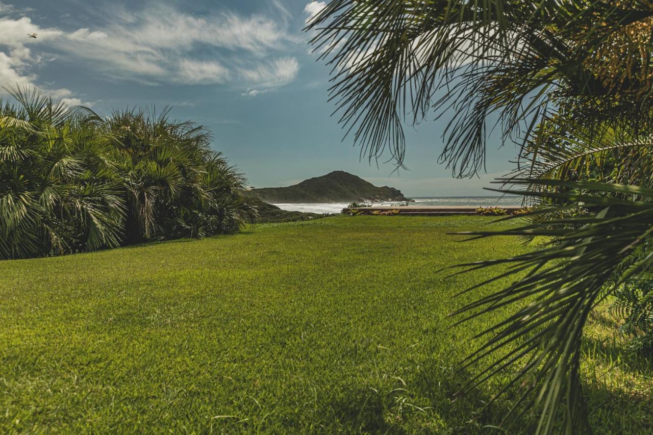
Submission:
{"label": "right-hand palm of the left clump, nearest the distant hill", "polygon": [[78,114],[112,140],[127,204],[125,244],[238,231],[255,212],[246,178],[211,148],[210,131],[169,118],[170,108]]}

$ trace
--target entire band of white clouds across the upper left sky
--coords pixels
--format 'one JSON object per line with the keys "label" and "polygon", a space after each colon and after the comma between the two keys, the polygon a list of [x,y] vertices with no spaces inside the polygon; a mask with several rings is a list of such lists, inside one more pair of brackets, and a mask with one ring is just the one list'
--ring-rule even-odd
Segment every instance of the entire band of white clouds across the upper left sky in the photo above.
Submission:
{"label": "entire band of white clouds across the upper left sky", "polygon": [[299,65],[294,57],[278,56],[296,37],[283,24],[287,10],[274,5],[282,20],[228,11],[194,16],[152,3],[136,12],[115,8],[102,25],[65,31],[40,27],[28,16],[7,16],[25,10],[0,3],[0,16],[5,15],[0,18],[0,80],[34,86],[72,104],[79,99],[69,89],[38,86],[34,66],[58,58],[147,84],[283,86],[296,78]]}

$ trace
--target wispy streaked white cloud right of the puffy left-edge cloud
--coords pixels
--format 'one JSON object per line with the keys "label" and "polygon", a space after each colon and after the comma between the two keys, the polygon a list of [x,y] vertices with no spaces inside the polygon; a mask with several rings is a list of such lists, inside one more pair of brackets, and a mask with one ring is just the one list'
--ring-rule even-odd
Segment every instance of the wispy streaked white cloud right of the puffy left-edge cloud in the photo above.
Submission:
{"label": "wispy streaked white cloud right of the puffy left-edge cloud", "polygon": [[[74,31],[60,40],[56,48],[106,63],[118,78],[215,84],[229,81],[231,74],[225,60],[230,60],[230,55],[238,52],[239,58],[257,60],[270,50],[282,48],[288,39],[270,18],[243,18],[231,12],[198,18],[159,7],[131,14],[129,22],[116,17],[102,29]],[[214,58],[189,56],[199,49]],[[215,50],[227,50],[227,54]]]}

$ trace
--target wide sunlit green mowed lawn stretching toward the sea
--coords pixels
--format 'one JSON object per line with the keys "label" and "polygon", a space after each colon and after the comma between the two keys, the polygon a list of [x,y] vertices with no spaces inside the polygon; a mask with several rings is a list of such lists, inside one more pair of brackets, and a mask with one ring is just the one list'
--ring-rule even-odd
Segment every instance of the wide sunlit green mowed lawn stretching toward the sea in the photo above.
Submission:
{"label": "wide sunlit green mowed lawn stretching toward the sea", "polygon": [[[488,271],[437,270],[530,249],[447,235],[505,225],[331,217],[0,262],[0,432],[496,432],[517,392],[481,410],[509,372],[453,400],[479,370],[454,364],[496,318],[447,315],[507,282],[454,298]],[[651,430],[650,361],[595,317],[592,424]]]}

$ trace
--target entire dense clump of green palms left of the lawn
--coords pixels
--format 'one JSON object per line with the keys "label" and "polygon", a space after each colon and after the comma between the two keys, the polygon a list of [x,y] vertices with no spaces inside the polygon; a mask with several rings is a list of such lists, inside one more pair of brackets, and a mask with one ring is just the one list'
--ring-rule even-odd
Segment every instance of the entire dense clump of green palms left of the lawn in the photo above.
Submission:
{"label": "entire dense clump of green palms left of the lawn", "polygon": [[237,231],[254,211],[211,136],[168,110],[71,111],[11,89],[0,110],[0,259]]}

